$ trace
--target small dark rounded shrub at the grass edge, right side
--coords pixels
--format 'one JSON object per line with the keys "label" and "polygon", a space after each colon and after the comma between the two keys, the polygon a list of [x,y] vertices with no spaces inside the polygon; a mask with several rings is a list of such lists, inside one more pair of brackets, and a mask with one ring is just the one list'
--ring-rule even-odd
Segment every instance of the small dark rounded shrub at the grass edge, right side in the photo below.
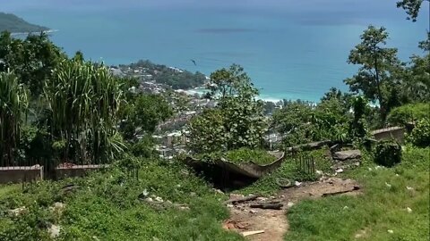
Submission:
{"label": "small dark rounded shrub at the grass edge, right side", "polygon": [[374,162],[392,167],[401,161],[401,146],[393,141],[381,141],[376,145]]}

